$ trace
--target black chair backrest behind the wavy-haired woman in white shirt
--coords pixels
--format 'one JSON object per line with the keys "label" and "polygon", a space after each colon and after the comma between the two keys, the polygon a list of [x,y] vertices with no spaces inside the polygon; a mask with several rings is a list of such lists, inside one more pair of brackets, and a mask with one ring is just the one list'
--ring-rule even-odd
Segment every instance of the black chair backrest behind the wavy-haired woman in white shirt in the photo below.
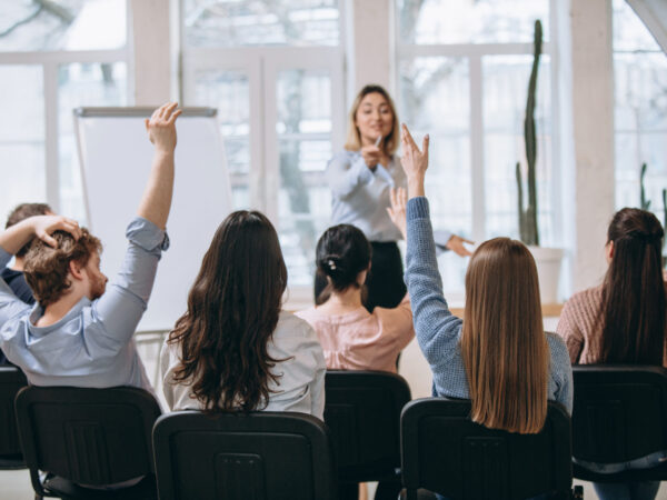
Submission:
{"label": "black chair backrest behind the wavy-haired woman in white shirt", "polygon": [[179,411],[153,430],[160,500],[334,500],[327,427],[305,413]]}

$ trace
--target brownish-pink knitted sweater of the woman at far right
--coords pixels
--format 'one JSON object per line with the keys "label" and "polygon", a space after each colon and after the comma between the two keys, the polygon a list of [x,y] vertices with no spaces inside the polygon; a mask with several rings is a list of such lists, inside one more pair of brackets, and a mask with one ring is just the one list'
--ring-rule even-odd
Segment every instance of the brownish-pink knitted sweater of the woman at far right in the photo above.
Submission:
{"label": "brownish-pink knitted sweater of the woman at far right", "polygon": [[[573,364],[594,364],[600,360],[603,321],[598,318],[603,286],[575,293],[563,308],[556,333],[565,340]],[[667,367],[667,352],[663,366]]]}

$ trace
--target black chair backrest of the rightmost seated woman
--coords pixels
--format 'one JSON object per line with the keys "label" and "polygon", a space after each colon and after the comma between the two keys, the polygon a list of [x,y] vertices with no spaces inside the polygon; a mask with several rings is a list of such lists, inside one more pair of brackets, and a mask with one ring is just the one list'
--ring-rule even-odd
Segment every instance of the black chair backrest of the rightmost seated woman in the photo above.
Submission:
{"label": "black chair backrest of the rightmost seated woman", "polygon": [[667,370],[590,364],[573,374],[575,458],[615,463],[667,449]]}

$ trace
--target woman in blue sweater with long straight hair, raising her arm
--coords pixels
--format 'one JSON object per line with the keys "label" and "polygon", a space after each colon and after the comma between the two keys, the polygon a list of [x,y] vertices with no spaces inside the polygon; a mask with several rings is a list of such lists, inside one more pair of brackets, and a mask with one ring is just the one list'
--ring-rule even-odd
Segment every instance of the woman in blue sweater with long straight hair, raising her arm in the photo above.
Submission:
{"label": "woman in blue sweater with long straight hair, raising her arm", "polygon": [[536,433],[547,400],[573,408],[571,367],[556,334],[545,333],[535,261],[519,241],[495,238],[472,254],[464,320],[442,294],[424,181],[428,136],[420,151],[402,130],[408,178],[406,283],[415,333],[437,396],[471,400],[471,418],[492,429]]}

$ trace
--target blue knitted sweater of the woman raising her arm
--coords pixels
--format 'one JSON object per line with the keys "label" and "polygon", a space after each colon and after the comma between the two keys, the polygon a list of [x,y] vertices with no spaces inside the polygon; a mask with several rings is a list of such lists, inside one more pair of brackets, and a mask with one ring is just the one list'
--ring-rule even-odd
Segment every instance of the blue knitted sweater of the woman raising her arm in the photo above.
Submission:
{"label": "blue knitted sweater of the woman raising her arm", "polygon": [[[469,399],[460,349],[462,320],[451,314],[442,293],[428,200],[411,198],[407,209],[406,284],[415,333],[434,374],[437,396]],[[573,370],[563,340],[546,333],[550,350],[548,398],[573,410]]]}

